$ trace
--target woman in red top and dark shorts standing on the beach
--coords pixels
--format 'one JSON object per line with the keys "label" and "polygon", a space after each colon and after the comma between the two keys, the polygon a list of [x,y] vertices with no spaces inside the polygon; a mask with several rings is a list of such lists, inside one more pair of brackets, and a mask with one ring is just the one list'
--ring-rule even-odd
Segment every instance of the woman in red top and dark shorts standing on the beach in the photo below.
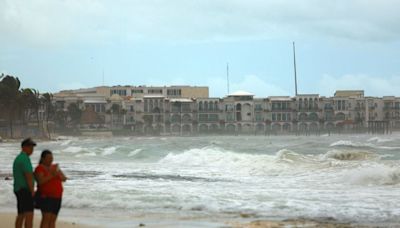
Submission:
{"label": "woman in red top and dark shorts standing on the beach", "polygon": [[44,150],[40,155],[40,161],[35,169],[35,177],[40,192],[40,210],[42,211],[41,228],[53,228],[61,208],[63,193],[62,182],[66,181],[64,173],[53,163],[53,153]]}

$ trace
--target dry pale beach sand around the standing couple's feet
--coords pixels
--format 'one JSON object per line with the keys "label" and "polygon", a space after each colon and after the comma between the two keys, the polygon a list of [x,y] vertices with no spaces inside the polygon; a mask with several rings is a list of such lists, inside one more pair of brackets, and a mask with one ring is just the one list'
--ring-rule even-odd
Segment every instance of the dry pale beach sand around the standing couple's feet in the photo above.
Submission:
{"label": "dry pale beach sand around the standing couple's feet", "polygon": [[[1,227],[14,227],[14,222],[15,222],[15,217],[16,213],[0,213],[0,226]],[[33,227],[34,228],[39,228],[40,226],[40,219],[41,215],[40,213],[35,213],[35,218],[33,220]],[[62,220],[57,220],[56,226],[58,228],[91,228],[94,226],[87,226],[87,225],[82,225],[78,224],[73,221],[62,221]]]}

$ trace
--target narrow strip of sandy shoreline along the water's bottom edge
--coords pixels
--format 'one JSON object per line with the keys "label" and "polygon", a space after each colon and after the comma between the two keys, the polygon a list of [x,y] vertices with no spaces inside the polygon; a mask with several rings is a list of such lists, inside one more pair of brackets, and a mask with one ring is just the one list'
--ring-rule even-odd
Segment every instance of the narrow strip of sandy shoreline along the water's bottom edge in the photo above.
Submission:
{"label": "narrow strip of sandy shoreline along the water's bottom edge", "polygon": [[[38,215],[39,214],[39,215]],[[13,227],[16,213],[0,212],[0,224],[4,227]],[[85,224],[77,217],[72,219],[60,218],[57,220],[59,228],[99,228],[99,227],[226,227],[226,228],[279,228],[279,227],[327,227],[327,228],[372,228],[372,227],[398,227],[399,223],[352,223],[340,222],[334,219],[244,219],[243,218],[166,218],[165,215],[148,215],[141,218],[121,218],[118,221],[107,221],[106,218],[88,218],[92,221],[91,225]],[[41,215],[35,211],[34,228],[39,228]],[[103,223],[103,222],[105,223]]]}

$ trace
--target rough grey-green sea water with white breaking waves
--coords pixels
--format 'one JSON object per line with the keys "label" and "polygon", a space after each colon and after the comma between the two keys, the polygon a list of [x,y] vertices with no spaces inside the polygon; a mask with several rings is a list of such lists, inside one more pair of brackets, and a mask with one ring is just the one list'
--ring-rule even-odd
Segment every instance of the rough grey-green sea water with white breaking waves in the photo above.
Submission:
{"label": "rough grey-green sea water with white breaking waves", "polygon": [[[400,135],[63,138],[39,142],[69,177],[61,215],[400,222]],[[18,143],[0,144],[0,207],[14,210]],[[153,217],[152,217],[153,216]],[[86,220],[86,221],[87,221]],[[210,222],[210,223],[207,223]],[[128,226],[128,225],[127,225]]]}

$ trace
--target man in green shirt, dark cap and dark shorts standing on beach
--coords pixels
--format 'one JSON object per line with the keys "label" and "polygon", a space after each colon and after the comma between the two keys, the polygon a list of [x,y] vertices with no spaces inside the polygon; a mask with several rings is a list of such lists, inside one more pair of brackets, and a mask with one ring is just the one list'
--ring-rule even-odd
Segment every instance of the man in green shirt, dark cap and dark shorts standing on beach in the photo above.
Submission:
{"label": "man in green shirt, dark cap and dark shorts standing on beach", "polygon": [[36,143],[27,138],[21,143],[22,151],[15,158],[13,164],[14,193],[17,196],[18,216],[15,220],[15,227],[22,228],[25,222],[25,228],[33,226],[33,170],[29,156],[33,153]]}

